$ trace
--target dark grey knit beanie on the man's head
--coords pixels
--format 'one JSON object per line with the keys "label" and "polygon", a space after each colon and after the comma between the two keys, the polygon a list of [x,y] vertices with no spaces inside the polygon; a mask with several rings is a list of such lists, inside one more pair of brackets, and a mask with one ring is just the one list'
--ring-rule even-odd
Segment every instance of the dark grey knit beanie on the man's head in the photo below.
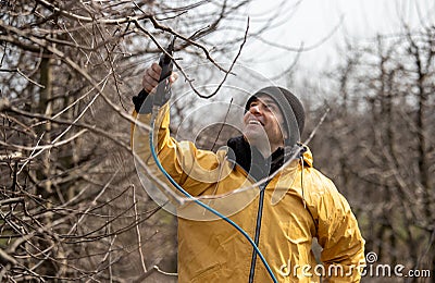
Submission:
{"label": "dark grey knit beanie on the man's head", "polygon": [[[303,125],[306,122],[306,114],[300,100],[294,94],[283,87],[268,86],[258,90],[248,99],[245,106],[245,112],[249,110],[250,103],[260,95],[266,95],[271,97],[278,104],[284,116],[285,127],[289,134],[289,138],[285,144],[293,146],[297,142],[300,142],[300,136],[302,135]],[[299,132],[297,136],[295,136],[296,128],[298,128]]]}

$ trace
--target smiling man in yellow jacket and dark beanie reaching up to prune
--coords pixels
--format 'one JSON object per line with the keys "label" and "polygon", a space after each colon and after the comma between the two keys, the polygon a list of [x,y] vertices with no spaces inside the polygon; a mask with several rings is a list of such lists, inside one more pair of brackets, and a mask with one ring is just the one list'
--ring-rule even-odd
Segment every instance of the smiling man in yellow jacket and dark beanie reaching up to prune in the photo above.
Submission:
{"label": "smiling man in yellow jacket and dark beanie reaching up to prune", "polygon": [[[160,72],[154,63],[144,76],[142,87],[149,96],[153,96]],[[175,78],[172,75],[170,82]],[[134,115],[150,124],[151,108],[146,104],[152,99],[144,103],[145,98],[134,98]],[[290,91],[271,86],[251,96],[243,136],[231,138],[228,148],[216,153],[170,137],[167,103],[157,121],[159,159],[189,194],[228,196],[265,180],[243,190],[247,192],[244,197],[228,197],[215,208],[250,235],[278,282],[320,282],[320,274],[330,282],[359,282],[364,241],[346,199],[312,167],[308,147],[296,144],[303,131],[304,112]],[[132,138],[136,156],[150,165],[148,135],[148,131],[135,127]],[[290,159],[295,155],[296,159]],[[311,250],[314,237],[323,247],[323,266],[316,264]],[[178,281],[271,282],[271,276],[257,251],[233,226],[222,219],[183,217],[181,208]]]}

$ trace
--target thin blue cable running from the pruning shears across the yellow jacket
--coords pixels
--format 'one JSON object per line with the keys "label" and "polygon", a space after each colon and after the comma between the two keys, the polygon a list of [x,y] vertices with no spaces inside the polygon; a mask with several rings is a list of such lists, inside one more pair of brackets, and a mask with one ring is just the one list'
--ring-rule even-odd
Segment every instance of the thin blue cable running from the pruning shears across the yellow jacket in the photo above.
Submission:
{"label": "thin blue cable running from the pruning shears across the yellow jacket", "polygon": [[246,233],[246,231],[243,230],[239,225],[237,225],[233,220],[228,219],[227,217],[225,217],[224,214],[222,214],[217,210],[215,210],[215,209],[209,207],[208,205],[203,204],[202,201],[199,201],[198,199],[194,198],[181,185],[178,185],[178,183],[176,183],[174,179],[172,179],[172,176],[166,172],[166,170],[164,170],[164,168],[163,168],[162,163],[160,163],[159,157],[157,156],[156,150],[154,150],[154,140],[153,140],[154,122],[156,122],[156,116],[157,116],[158,112],[159,112],[158,109],[156,109],[153,107],[153,109],[152,109],[152,118],[151,118],[151,131],[150,131],[150,138],[149,138],[150,139],[149,144],[150,144],[150,148],[151,148],[151,155],[152,155],[152,158],[156,161],[157,167],[164,174],[164,176],[171,182],[171,184],[174,185],[179,192],[183,193],[183,195],[185,195],[187,198],[194,200],[196,204],[198,204],[199,206],[201,206],[204,209],[209,210],[213,214],[215,214],[215,216],[220,217],[221,219],[225,220],[232,226],[234,226],[238,232],[240,232],[248,239],[248,242],[251,244],[251,246],[256,249],[257,254],[259,255],[259,257],[260,257],[261,261],[263,262],[264,267],[266,268],[266,270],[269,272],[269,275],[273,280],[273,282],[277,283],[275,274],[273,274],[273,271],[272,271],[271,267],[269,266],[268,261],[265,260],[264,256],[261,254],[259,247],[256,245],[253,239],[248,235],[248,233]]}

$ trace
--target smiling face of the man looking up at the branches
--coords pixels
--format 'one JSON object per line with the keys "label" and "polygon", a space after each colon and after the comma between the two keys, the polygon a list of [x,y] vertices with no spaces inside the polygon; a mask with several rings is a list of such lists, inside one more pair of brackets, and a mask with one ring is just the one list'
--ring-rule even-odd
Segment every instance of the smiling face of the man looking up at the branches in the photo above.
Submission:
{"label": "smiling face of the man looking up at the branches", "polygon": [[[244,135],[249,144],[258,148],[269,143],[271,152],[284,146],[284,118],[275,100],[266,95],[258,96],[249,104],[244,116]],[[283,130],[284,131],[284,130]]]}

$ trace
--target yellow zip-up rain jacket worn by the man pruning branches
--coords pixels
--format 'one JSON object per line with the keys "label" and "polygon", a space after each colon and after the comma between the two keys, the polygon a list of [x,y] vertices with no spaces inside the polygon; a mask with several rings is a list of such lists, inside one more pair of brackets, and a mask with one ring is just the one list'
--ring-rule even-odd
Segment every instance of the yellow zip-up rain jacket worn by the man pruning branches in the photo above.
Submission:
{"label": "yellow zip-up rain jacket worn by the man pruning branches", "polygon": [[[320,282],[320,274],[330,276],[328,282],[359,282],[364,241],[357,220],[333,182],[312,167],[309,150],[303,167],[293,161],[265,189],[232,195],[254,181],[226,159],[226,150],[214,153],[170,137],[167,112],[166,104],[157,119],[157,150],[164,169],[194,196],[223,195],[203,202],[229,216],[258,243],[278,282]],[[150,124],[151,114],[134,115]],[[132,146],[137,164],[156,168],[147,130],[133,128]],[[158,170],[153,173],[163,179]],[[252,246],[232,225],[191,202],[177,212],[178,282],[272,282]],[[323,264],[311,250],[314,237],[323,247]]]}

